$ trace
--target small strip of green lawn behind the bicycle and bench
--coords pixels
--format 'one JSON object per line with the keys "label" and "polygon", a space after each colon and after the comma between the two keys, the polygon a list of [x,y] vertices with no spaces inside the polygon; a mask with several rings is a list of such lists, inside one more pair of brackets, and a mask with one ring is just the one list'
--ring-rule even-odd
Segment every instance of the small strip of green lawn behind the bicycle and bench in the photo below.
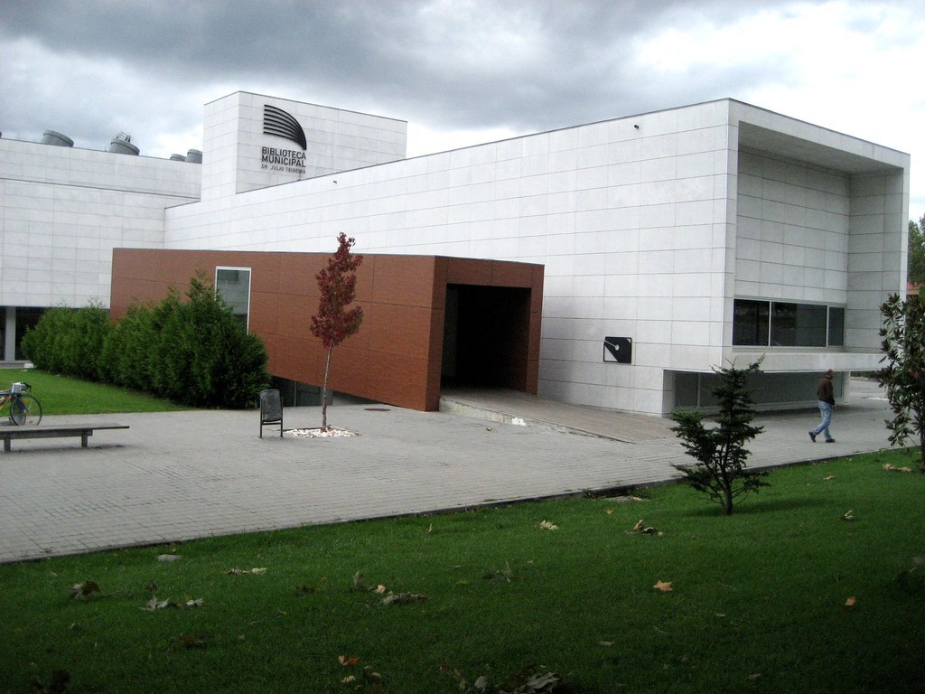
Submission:
{"label": "small strip of green lawn behind the bicycle and bench", "polygon": [[[43,416],[102,415],[121,412],[170,412],[189,407],[155,398],[153,395],[93,383],[78,378],[48,374],[37,369],[0,369],[0,390],[25,381],[42,403]],[[6,407],[4,416],[8,415]]]}

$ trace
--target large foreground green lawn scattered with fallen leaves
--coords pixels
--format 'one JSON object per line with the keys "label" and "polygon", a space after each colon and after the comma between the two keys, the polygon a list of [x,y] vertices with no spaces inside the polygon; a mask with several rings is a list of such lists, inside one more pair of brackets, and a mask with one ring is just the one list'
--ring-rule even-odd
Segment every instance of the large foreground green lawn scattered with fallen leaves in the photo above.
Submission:
{"label": "large foreground green lawn scattered with fallen leaves", "polygon": [[925,477],[887,463],[775,470],[729,517],[664,486],[6,564],[0,692],[921,692]]}

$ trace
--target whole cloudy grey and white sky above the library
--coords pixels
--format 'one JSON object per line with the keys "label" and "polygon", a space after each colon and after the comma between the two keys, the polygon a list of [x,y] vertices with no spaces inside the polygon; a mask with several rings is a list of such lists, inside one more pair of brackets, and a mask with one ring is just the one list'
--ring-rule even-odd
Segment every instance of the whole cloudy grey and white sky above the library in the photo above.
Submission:
{"label": "whole cloudy grey and white sky above the library", "polygon": [[4,0],[0,131],[202,146],[239,90],[407,120],[408,154],[733,97],[912,155],[925,0]]}

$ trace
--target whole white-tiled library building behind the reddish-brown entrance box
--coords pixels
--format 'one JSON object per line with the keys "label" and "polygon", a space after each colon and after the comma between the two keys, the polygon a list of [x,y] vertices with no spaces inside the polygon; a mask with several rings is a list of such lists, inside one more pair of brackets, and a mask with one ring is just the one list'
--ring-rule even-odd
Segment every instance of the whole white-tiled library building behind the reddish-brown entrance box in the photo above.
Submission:
{"label": "whole white-tiled library building behind the reddish-brown entrance box", "polygon": [[405,138],[234,93],[206,105],[201,166],[0,140],[6,359],[29,309],[108,304],[114,247],[330,252],[344,231],[545,266],[544,397],[662,414],[763,356],[759,400],[792,406],[826,368],[878,366],[906,154],[729,99],[413,159]]}

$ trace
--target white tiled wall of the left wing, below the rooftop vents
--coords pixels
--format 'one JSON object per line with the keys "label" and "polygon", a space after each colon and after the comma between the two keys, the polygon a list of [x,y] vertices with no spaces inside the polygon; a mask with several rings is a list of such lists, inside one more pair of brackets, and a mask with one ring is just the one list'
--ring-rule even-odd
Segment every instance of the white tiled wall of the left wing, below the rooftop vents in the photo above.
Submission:
{"label": "white tiled wall of the left wing, below the rooftop vents", "polygon": [[112,249],[159,248],[200,167],[0,140],[0,305],[109,304]]}

